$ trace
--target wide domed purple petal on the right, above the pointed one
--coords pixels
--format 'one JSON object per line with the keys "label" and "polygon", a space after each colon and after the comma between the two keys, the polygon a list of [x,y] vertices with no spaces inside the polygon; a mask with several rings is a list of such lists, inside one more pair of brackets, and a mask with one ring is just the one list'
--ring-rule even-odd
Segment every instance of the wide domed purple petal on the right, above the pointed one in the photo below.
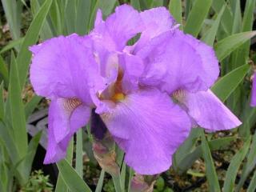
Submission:
{"label": "wide domed purple petal on the right, above the pointed one", "polygon": [[214,50],[189,34],[174,30],[159,35],[138,51],[147,63],[142,84],[174,90],[207,90],[218,78]]}

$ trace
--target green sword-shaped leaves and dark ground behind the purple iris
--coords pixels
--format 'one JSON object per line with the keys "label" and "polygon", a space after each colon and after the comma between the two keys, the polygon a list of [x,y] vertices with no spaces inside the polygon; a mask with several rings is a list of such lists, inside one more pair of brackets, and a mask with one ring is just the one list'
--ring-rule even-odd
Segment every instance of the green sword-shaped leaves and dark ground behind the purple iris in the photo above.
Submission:
{"label": "green sword-shaped leaves and dark ground behind the purple iris", "polygon": [[[1,0],[0,191],[250,191],[256,189],[256,108],[250,107],[256,62],[255,0]],[[242,120],[215,134],[201,128],[174,155],[170,170],[134,178],[116,146],[118,176],[105,173],[91,150],[90,127],[79,130],[66,160],[43,166],[48,101],[28,79],[28,46],[61,34],[88,34],[95,13],[123,3],[137,10],[166,6],[180,29],[213,46],[221,74],[214,94]],[[58,171],[59,170],[59,171]],[[119,185],[119,186],[118,186]],[[143,188],[144,187],[144,188]],[[151,189],[150,189],[151,187]]]}

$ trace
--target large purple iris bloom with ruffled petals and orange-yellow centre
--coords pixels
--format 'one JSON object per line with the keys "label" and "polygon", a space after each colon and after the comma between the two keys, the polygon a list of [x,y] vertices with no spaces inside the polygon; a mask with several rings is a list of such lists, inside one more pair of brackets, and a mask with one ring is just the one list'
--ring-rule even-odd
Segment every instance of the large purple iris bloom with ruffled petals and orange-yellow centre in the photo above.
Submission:
{"label": "large purple iris bloom with ruffled petals and orange-yellow centre", "polygon": [[118,6],[106,21],[98,10],[90,34],[51,38],[30,50],[30,81],[51,100],[45,163],[65,157],[92,109],[139,174],[168,170],[193,126],[241,124],[209,89],[219,74],[214,50],[178,30],[166,8]]}

